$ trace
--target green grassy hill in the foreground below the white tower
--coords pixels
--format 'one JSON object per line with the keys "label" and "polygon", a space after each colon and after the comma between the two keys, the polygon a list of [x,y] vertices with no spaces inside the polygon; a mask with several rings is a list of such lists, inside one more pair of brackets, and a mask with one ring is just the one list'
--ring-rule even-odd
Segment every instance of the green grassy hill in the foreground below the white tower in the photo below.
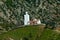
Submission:
{"label": "green grassy hill in the foreground below the white tower", "polygon": [[0,35],[0,40],[60,40],[60,34],[43,26],[25,26]]}

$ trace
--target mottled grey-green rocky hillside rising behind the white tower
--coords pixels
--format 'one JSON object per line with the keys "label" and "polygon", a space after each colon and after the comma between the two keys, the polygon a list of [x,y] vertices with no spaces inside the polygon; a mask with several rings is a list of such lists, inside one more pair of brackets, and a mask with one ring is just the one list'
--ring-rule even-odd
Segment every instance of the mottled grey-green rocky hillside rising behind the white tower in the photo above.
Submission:
{"label": "mottled grey-green rocky hillside rising behind the white tower", "polygon": [[60,0],[0,0],[0,24],[23,25],[23,15],[60,23]]}

